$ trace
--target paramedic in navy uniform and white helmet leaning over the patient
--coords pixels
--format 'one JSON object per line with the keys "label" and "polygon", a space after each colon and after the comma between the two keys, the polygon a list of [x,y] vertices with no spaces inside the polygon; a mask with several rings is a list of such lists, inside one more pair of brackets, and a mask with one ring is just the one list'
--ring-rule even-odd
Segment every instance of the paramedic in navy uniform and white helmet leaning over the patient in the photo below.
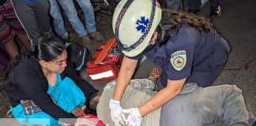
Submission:
{"label": "paramedic in navy uniform and white helmet leaning over the patient", "polygon": [[[113,30],[125,54],[109,103],[115,125],[140,125],[142,117],[175,98],[185,83],[209,87],[224,68],[230,47],[209,20],[165,11],[161,19],[162,10],[155,0],[122,0],[115,8]],[[163,69],[164,88],[139,108],[122,109],[122,94],[141,54]]]}

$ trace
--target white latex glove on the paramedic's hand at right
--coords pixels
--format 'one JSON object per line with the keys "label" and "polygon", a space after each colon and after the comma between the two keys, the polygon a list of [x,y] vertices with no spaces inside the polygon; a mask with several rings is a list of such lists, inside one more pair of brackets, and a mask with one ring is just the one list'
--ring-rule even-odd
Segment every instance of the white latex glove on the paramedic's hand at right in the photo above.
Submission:
{"label": "white latex glove on the paramedic's hand at right", "polygon": [[122,112],[129,113],[129,116],[126,120],[126,123],[128,123],[128,126],[141,126],[142,117],[138,108],[122,109]]}

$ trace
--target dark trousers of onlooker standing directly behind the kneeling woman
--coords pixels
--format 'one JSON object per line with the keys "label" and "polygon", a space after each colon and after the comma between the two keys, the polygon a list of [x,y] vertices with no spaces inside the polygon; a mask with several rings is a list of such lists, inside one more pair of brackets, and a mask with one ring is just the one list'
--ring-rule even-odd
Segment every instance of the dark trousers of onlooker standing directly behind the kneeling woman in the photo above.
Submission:
{"label": "dark trousers of onlooker standing directly behind the kneeling woman", "polygon": [[47,0],[25,2],[25,0],[11,0],[17,17],[21,21],[33,47],[41,37],[54,35],[50,24],[50,4]]}

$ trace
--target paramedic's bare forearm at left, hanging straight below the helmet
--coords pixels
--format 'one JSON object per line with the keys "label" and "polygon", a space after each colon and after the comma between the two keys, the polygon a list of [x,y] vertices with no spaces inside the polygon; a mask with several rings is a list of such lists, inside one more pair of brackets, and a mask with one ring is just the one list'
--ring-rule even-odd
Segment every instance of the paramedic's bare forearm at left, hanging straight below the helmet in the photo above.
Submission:
{"label": "paramedic's bare forearm at left, hanging straight below the helmet", "polygon": [[123,57],[121,69],[115,86],[114,100],[121,100],[122,94],[130,82],[130,78],[134,75],[136,66],[137,60],[130,59],[126,56]]}

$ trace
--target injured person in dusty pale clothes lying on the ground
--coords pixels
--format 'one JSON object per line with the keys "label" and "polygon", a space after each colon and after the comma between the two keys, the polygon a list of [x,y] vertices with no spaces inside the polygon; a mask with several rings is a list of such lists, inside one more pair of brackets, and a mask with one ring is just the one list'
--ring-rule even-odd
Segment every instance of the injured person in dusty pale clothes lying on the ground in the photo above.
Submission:
{"label": "injured person in dusty pale clothes lying on the ground", "polygon": [[[158,69],[152,69],[148,79],[130,81],[120,102],[126,109],[124,112],[134,110],[156,95],[157,91],[154,89],[159,75]],[[91,108],[96,108],[97,115],[104,124],[115,125],[109,116],[110,109],[106,109],[114,93],[115,83],[107,83],[102,95],[98,96],[98,104],[90,103]],[[247,112],[242,91],[235,85],[198,87],[197,83],[186,83],[178,96],[143,117],[141,124],[133,124],[133,120],[128,117],[126,121],[130,121],[129,124],[133,126],[198,126],[215,125],[218,121],[224,121],[226,126],[250,126],[256,118]],[[127,122],[119,125],[125,123]]]}

